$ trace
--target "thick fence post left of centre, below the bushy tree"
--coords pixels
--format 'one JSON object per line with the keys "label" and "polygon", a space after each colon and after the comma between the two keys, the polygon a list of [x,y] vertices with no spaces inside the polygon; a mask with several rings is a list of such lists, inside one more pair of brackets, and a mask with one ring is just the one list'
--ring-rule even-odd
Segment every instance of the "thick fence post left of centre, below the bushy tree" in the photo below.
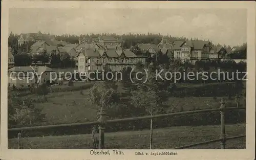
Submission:
{"label": "thick fence post left of centre, below the bushy tree", "polygon": [[104,130],[106,123],[106,113],[104,107],[100,108],[100,117],[98,119],[99,122],[99,146],[98,149],[104,148]]}

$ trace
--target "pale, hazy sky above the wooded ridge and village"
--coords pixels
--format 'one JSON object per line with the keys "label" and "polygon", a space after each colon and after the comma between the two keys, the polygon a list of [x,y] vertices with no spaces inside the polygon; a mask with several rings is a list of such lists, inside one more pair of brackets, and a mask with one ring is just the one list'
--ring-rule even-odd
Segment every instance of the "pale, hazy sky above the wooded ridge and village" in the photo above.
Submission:
{"label": "pale, hazy sky above the wooded ridge and village", "polygon": [[9,9],[9,33],[161,33],[230,46],[246,42],[246,9]]}

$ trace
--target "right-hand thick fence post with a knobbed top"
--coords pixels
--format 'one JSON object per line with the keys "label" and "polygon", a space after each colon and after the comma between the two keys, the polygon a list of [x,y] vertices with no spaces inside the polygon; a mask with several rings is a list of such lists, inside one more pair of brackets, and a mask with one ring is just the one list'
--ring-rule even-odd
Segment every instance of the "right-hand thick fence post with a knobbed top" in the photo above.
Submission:
{"label": "right-hand thick fence post with a knobbed top", "polygon": [[221,149],[225,149],[226,147],[226,133],[225,133],[225,102],[221,99]]}

